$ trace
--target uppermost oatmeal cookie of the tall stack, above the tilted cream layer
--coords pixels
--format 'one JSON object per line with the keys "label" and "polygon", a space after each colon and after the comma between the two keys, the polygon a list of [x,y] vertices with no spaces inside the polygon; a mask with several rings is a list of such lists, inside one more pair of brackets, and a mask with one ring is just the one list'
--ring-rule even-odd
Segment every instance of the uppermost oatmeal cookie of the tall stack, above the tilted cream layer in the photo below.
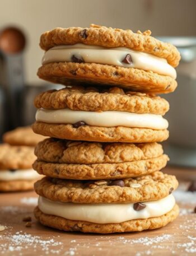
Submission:
{"label": "uppermost oatmeal cookie of the tall stack, above the tilted cream layer", "polygon": [[146,52],[165,58],[173,67],[178,66],[180,60],[180,53],[175,46],[153,38],[150,30],[143,33],[141,31],[134,33],[132,30],[113,29],[92,24],[86,28],[68,27],[63,29],[57,27],[54,30],[44,32],[40,38],[40,46],[44,50],[57,45],[78,43],[110,48],[131,48],[139,52]]}

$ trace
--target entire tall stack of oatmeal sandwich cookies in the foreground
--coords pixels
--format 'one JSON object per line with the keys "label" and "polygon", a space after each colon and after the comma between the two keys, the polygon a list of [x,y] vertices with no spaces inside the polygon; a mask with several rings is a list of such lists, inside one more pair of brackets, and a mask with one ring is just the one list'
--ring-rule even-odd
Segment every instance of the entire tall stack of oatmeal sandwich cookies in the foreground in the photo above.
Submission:
{"label": "entire tall stack of oatmeal sandwich cookies in the foreground", "polygon": [[[46,52],[38,76],[69,85],[38,95],[34,169],[45,178],[35,217],[64,231],[156,229],[179,213],[175,176],[158,142],[169,137],[169,103],[180,54],[138,31],[57,28],[41,36]],[[89,87],[93,84],[94,87]]]}

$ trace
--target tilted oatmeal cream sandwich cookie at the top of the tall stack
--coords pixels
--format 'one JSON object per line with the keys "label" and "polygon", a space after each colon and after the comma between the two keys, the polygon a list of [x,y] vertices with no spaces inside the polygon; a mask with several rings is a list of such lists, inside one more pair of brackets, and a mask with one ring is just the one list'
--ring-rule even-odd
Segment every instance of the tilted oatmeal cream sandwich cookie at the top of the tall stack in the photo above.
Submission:
{"label": "tilted oatmeal cream sandwich cookie at the top of the tall stack", "polygon": [[134,91],[168,93],[175,90],[180,53],[174,45],[151,36],[151,31],[57,27],[41,35],[45,50],[38,76],[73,85],[93,83]]}

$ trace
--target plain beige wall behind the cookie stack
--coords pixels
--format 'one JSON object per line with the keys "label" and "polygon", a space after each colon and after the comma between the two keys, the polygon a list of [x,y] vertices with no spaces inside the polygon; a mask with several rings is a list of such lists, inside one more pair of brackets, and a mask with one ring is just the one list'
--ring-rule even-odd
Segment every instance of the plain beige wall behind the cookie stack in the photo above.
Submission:
{"label": "plain beige wall behind the cookie stack", "polygon": [[0,4],[0,26],[18,25],[26,33],[27,83],[39,83],[40,34],[57,26],[94,23],[151,29],[152,35],[196,35],[195,0],[0,0]]}

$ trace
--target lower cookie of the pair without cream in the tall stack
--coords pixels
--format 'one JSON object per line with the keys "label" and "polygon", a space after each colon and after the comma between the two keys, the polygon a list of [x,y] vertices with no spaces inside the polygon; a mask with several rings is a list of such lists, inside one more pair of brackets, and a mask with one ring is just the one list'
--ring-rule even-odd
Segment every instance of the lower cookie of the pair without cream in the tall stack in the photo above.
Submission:
{"label": "lower cookie of the pair without cream in the tall stack", "polygon": [[161,155],[152,159],[122,162],[118,164],[53,164],[35,161],[32,167],[39,174],[60,179],[121,179],[147,175],[161,170],[169,157]]}

